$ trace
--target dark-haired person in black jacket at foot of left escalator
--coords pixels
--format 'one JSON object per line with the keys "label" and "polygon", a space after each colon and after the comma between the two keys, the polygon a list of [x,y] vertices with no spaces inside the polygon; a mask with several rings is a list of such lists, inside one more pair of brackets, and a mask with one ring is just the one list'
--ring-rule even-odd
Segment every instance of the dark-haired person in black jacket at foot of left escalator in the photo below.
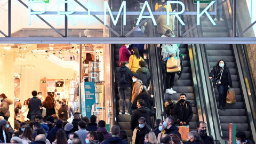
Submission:
{"label": "dark-haired person in black jacket at foot of left escalator", "polygon": [[150,127],[153,127],[153,125],[151,125],[151,116],[154,116],[155,110],[150,110],[149,108],[144,106],[145,106],[144,100],[141,100],[141,99],[137,100],[138,109],[135,109],[133,111],[132,117],[131,117],[132,131],[135,129],[135,127],[139,125],[138,119],[140,117],[145,117],[147,124],[150,125]]}

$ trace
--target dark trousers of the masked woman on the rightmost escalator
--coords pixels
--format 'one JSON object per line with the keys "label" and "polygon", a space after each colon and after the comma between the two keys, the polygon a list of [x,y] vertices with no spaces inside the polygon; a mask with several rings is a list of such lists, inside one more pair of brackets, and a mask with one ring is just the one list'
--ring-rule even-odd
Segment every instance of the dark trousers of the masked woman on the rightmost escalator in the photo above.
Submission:
{"label": "dark trousers of the masked woman on the rightmost escalator", "polygon": [[219,92],[219,107],[225,107],[227,103],[228,85],[219,85],[217,90]]}

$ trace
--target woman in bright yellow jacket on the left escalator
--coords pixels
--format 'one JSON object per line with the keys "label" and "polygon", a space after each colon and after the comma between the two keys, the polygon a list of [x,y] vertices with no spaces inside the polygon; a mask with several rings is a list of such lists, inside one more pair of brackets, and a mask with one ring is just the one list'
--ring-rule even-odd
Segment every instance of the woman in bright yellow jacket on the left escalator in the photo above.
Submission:
{"label": "woman in bright yellow jacket on the left escalator", "polygon": [[129,59],[129,69],[131,69],[132,73],[134,74],[140,68],[139,61],[143,60],[143,58],[140,57],[137,47],[132,47],[132,52],[133,54]]}

